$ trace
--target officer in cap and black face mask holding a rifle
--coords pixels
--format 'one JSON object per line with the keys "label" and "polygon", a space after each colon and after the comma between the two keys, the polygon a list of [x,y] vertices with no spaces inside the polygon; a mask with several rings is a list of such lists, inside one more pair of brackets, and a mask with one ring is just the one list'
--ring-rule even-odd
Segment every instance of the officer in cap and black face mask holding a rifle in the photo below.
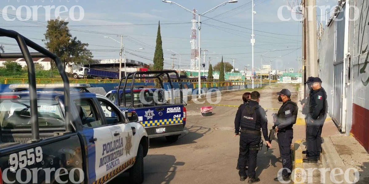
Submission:
{"label": "officer in cap and black face mask holding a rifle", "polygon": [[[292,161],[291,161],[291,143],[293,139],[293,128],[292,126],[296,123],[297,112],[299,112],[299,107],[296,103],[292,102],[291,92],[288,89],[282,89],[277,92],[278,101],[283,102],[283,105],[279,108],[277,113],[276,122],[274,127],[277,131],[279,152],[282,158],[283,170],[282,177],[278,176],[274,178],[275,181],[279,181],[278,178],[283,180],[289,180],[292,171]],[[289,169],[289,170],[287,170]]]}

